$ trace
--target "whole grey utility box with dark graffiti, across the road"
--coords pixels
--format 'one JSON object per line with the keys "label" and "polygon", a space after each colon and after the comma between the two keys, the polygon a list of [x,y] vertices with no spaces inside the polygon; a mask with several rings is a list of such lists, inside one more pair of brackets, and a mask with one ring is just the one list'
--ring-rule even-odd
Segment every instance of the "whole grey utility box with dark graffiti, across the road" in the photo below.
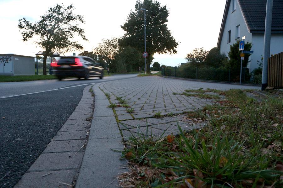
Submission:
{"label": "whole grey utility box with dark graffiti, across the road", "polygon": [[0,54],[0,75],[35,75],[35,57]]}

